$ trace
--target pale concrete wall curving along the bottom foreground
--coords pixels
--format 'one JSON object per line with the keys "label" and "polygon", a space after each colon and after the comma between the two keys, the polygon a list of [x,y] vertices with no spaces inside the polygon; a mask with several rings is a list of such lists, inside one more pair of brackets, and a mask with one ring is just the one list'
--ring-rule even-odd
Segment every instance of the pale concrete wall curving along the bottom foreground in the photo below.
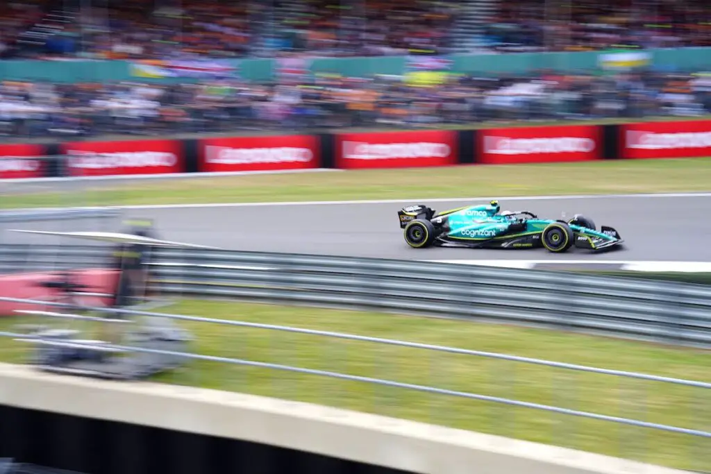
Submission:
{"label": "pale concrete wall curving along the bottom foreground", "polygon": [[[49,375],[29,367],[0,364],[0,408],[8,407],[249,441],[373,467],[358,470],[363,473],[682,473],[325,406],[193,387]],[[2,429],[13,428],[6,425]],[[32,436],[25,429],[23,436],[28,435]],[[6,450],[0,445],[0,455],[11,456]],[[127,452],[123,456],[132,455]],[[269,472],[283,473],[283,468]],[[306,471],[295,468],[291,472]],[[331,470],[331,474],[338,472]]]}

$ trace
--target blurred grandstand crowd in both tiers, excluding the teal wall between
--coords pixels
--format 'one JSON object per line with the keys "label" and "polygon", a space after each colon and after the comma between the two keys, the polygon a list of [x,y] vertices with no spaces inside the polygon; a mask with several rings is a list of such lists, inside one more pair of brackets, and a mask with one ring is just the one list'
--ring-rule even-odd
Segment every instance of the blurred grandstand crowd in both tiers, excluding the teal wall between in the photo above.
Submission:
{"label": "blurred grandstand crowd in both tiers, excluding the teal wall between", "polygon": [[[454,0],[95,0],[88,8],[86,4],[5,2],[0,6],[2,58],[508,54],[711,45],[711,9],[702,0],[500,1],[493,3],[497,6],[493,11],[478,10],[474,16],[468,8],[475,1]],[[479,26],[464,21],[477,18]],[[48,28],[53,33],[37,41],[38,32]],[[432,87],[407,85],[401,77],[331,76],[269,84],[237,77],[178,85],[14,80],[0,84],[0,135],[6,137],[700,114],[711,114],[711,79],[693,71],[464,74]]]}

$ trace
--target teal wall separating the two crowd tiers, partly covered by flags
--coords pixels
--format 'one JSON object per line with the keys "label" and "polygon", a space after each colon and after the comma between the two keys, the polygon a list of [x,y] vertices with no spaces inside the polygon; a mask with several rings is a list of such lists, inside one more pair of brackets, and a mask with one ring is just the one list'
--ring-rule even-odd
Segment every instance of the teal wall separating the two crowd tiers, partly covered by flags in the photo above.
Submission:
{"label": "teal wall separating the two crowd tiers, partly covered by flags", "polygon": [[[711,48],[673,48],[650,50],[653,64],[679,70],[711,70]],[[594,70],[599,53],[508,53],[501,55],[451,55],[453,71],[479,74],[517,74],[530,70]],[[229,60],[240,75],[250,81],[269,80],[274,75],[274,61]],[[322,58],[314,60],[312,72],[368,77],[375,74],[400,75],[406,58]],[[127,61],[77,60],[68,62],[40,60],[0,61],[0,80],[47,80],[52,82],[107,82],[136,79]],[[172,82],[161,79],[158,82]]]}

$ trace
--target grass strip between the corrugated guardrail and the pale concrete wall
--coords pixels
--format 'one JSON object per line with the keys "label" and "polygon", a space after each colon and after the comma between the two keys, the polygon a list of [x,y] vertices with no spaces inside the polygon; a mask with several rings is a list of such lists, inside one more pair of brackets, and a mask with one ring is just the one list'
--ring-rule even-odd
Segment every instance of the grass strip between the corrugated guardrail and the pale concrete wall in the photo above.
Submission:
{"label": "grass strip between the corrugated guardrail and the pale concrete wall", "polygon": [[[709,352],[550,330],[227,301],[181,301],[161,312],[294,325],[711,382]],[[16,322],[0,321],[0,328]],[[181,325],[196,335],[194,350],[207,355],[395,379],[695,429],[708,429],[711,421],[707,390],[276,331]],[[23,357],[25,349],[19,343],[0,340],[0,344],[4,360],[19,362]],[[326,404],[675,468],[700,469],[711,463],[708,441],[702,438],[362,382],[202,361],[158,380]]]}

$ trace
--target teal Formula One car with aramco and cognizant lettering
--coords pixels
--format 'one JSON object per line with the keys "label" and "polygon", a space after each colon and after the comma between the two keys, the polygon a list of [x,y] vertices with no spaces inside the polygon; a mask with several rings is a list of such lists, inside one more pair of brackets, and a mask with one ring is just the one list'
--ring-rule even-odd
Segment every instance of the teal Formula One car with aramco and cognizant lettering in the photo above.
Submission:
{"label": "teal Formula One car with aramco and cognizant lettering", "polygon": [[405,242],[417,249],[470,247],[486,249],[532,249],[566,252],[571,247],[589,250],[619,248],[624,242],[612,227],[602,226],[582,215],[570,220],[540,219],[533,212],[503,211],[498,201],[488,205],[435,212],[426,205],[412,205],[397,212]]}

